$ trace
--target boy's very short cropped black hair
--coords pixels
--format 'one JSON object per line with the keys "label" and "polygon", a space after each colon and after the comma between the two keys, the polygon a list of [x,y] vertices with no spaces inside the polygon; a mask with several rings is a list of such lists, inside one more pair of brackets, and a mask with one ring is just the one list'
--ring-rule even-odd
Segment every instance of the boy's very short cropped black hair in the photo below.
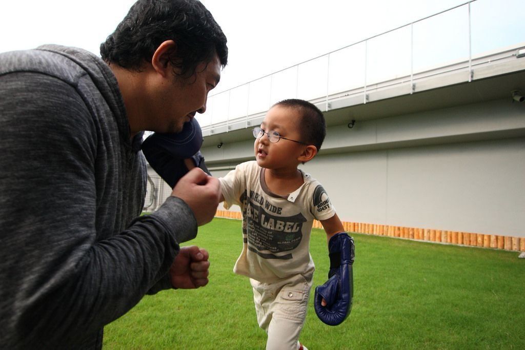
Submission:
{"label": "boy's very short cropped black hair", "polygon": [[324,136],[327,134],[327,125],[324,121],[324,115],[319,108],[313,103],[300,99],[287,99],[274,104],[282,107],[293,108],[301,115],[300,132],[302,142],[314,145],[317,151],[321,149]]}

